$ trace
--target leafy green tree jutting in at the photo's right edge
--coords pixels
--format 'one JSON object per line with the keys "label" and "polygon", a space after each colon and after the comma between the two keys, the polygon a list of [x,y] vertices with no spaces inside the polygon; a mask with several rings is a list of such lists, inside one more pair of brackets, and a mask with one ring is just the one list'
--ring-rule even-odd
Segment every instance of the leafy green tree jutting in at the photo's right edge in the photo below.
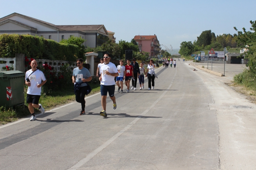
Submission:
{"label": "leafy green tree jutting in at the photo's right edge", "polygon": [[[245,28],[242,28],[242,31],[238,31],[236,27],[234,29],[237,31],[238,35],[236,36],[237,46],[241,48],[246,48],[248,51],[245,51],[245,59],[248,58],[249,72],[252,73],[252,76],[256,77],[256,21],[250,21],[252,27],[250,30],[246,31]],[[241,54],[242,55],[242,54]]]}

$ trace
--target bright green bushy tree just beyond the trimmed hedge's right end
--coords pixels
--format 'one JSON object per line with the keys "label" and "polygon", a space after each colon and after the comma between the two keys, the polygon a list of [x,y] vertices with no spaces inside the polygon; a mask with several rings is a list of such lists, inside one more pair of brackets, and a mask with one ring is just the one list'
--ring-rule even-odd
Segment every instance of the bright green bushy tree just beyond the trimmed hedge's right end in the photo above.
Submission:
{"label": "bright green bushy tree just beyond the trimmed hedge's right end", "polygon": [[70,36],[68,39],[62,39],[60,41],[60,43],[64,43],[64,44],[77,45],[79,47],[79,54],[77,55],[78,58],[84,58],[85,57],[86,48],[83,45],[84,42],[85,42],[85,40],[83,38],[77,37],[77,36]]}

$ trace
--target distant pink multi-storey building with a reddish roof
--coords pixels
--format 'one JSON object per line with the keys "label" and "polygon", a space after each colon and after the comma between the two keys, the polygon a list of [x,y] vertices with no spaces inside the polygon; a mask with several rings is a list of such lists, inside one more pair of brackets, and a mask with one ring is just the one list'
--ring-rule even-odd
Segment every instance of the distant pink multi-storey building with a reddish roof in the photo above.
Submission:
{"label": "distant pink multi-storey building with a reddish roof", "polygon": [[136,35],[134,39],[139,46],[140,52],[148,52],[150,57],[156,57],[160,53],[159,41],[156,35]]}

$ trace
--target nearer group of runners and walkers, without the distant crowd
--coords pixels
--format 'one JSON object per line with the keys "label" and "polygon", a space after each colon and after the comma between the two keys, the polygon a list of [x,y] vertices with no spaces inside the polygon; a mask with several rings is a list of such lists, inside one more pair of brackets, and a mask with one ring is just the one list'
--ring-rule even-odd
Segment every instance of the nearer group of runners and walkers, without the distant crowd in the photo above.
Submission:
{"label": "nearer group of runners and walkers, without the distant crowd", "polygon": [[[78,67],[73,70],[72,82],[74,83],[75,99],[78,103],[81,103],[82,111],[80,115],[85,115],[85,95],[88,91],[87,82],[91,81],[92,77],[88,69],[83,67],[83,59],[79,58],[76,61]],[[101,63],[98,65],[97,76],[99,81],[101,81],[101,105],[102,111],[99,115],[107,117],[106,113],[106,98],[109,94],[110,99],[113,101],[113,109],[117,108],[116,97],[114,96],[115,85],[118,86],[118,92],[123,93],[123,81],[125,80],[125,85],[127,86],[127,93],[130,89],[130,81],[132,80],[132,88],[136,90],[137,80],[139,79],[140,90],[144,89],[144,76],[148,78],[148,90],[154,89],[155,77],[155,64],[152,59],[147,66],[147,70],[144,68],[144,64],[136,62],[136,58],[127,59],[127,65],[123,65],[124,61],[120,60],[120,65],[116,67],[114,63],[110,62],[109,53],[105,53],[104,57],[101,59]],[[44,73],[37,69],[37,61],[32,61],[31,69],[26,72],[25,82],[28,86],[27,90],[27,103],[29,105],[29,111],[31,113],[30,121],[36,120],[34,113],[34,108],[38,108],[41,113],[44,113],[44,108],[39,104],[39,99],[41,96],[41,86],[46,83],[46,78]],[[99,71],[99,74],[98,74]],[[116,82],[114,78],[116,77]],[[120,84],[119,84],[120,82]]]}

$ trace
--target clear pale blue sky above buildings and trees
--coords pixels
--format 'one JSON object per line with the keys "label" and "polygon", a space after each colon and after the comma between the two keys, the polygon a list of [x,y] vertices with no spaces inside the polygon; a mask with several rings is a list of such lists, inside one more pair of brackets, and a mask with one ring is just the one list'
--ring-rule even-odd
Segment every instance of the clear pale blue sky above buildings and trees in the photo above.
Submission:
{"label": "clear pale blue sky above buildings and trees", "polygon": [[155,34],[160,44],[179,49],[205,30],[215,35],[233,35],[233,27],[249,30],[255,6],[256,0],[0,0],[0,18],[16,12],[55,25],[103,24],[117,42]]}

